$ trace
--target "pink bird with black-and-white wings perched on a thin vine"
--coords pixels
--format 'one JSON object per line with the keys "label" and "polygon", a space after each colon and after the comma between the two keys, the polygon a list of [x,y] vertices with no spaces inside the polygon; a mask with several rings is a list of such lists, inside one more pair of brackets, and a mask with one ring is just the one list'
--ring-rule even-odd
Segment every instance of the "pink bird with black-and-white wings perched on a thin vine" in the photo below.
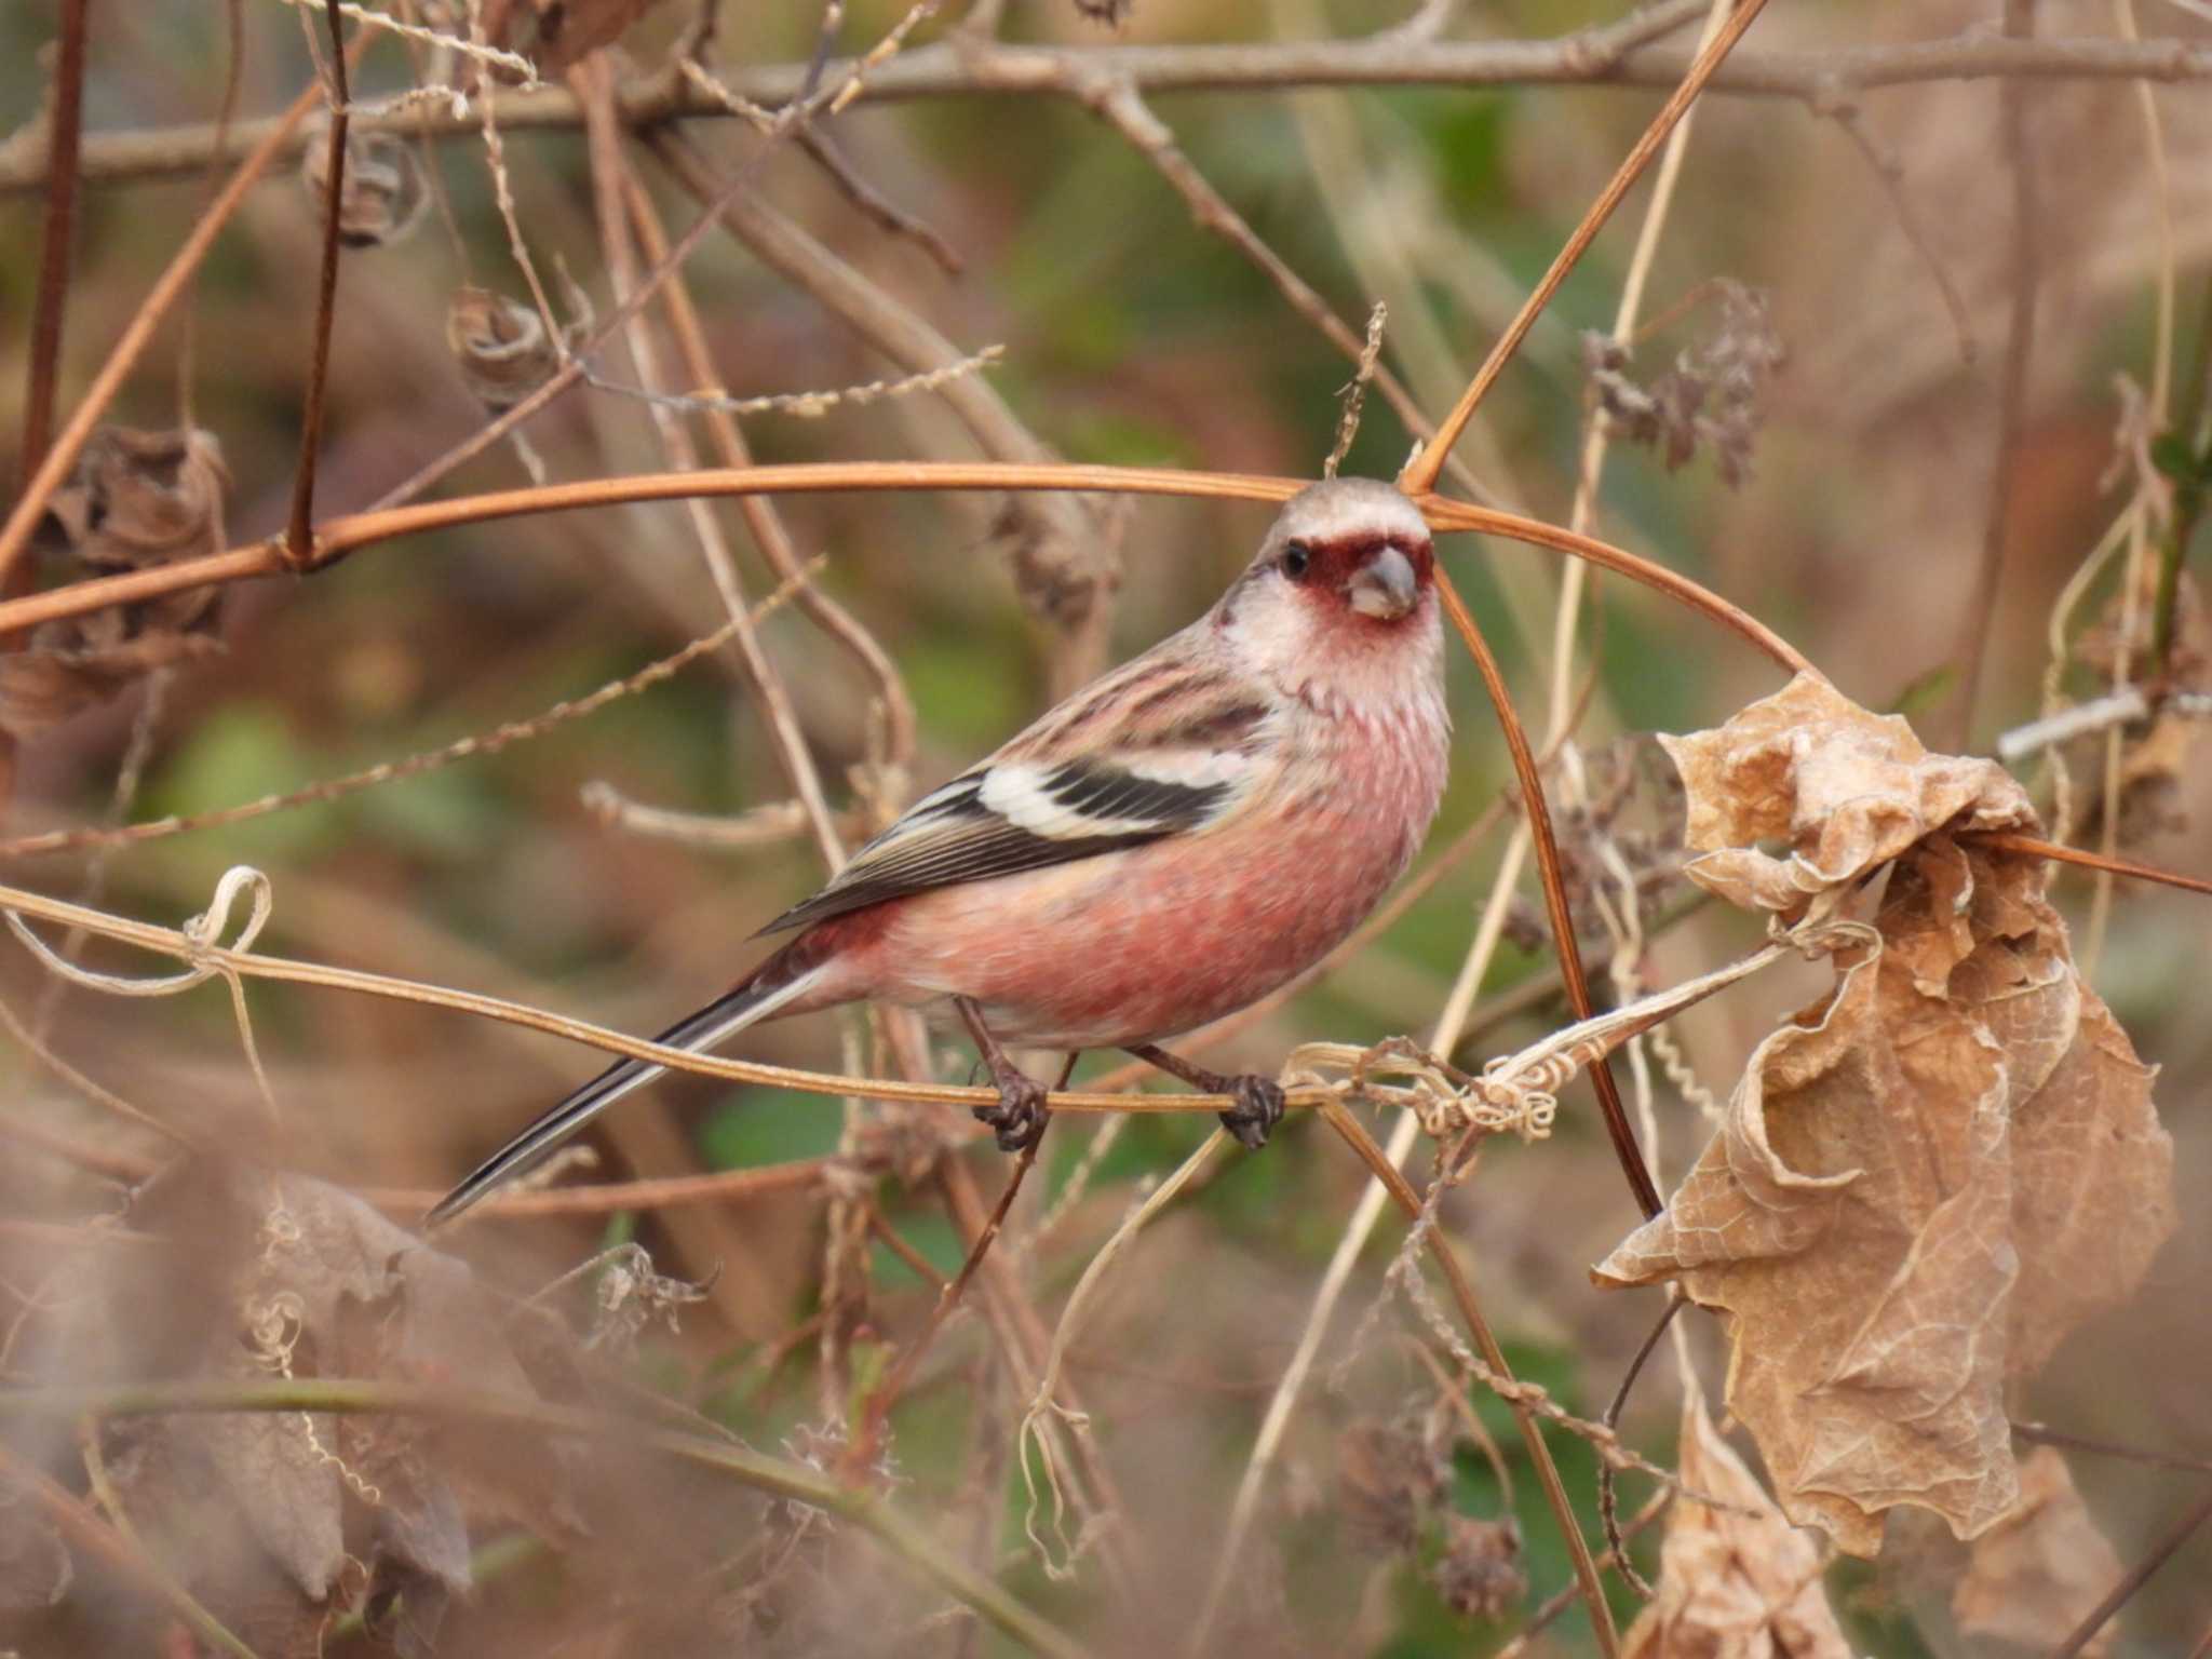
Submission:
{"label": "pink bird with black-and-white wings perched on a thin vine", "polygon": [[[1157,1044],[1274,991],[1405,872],[1444,787],[1436,553],[1389,484],[1294,495],[1203,617],[1068,697],[916,801],[763,933],[783,949],[661,1033],[712,1048],[761,1020],[876,998],[953,1013],[1006,1150],[1044,1130],[1015,1048],[1126,1048],[1203,1093],[1259,1148],[1267,1077]],[[456,1186],[431,1223],[529,1170],[661,1066],[624,1060]]]}

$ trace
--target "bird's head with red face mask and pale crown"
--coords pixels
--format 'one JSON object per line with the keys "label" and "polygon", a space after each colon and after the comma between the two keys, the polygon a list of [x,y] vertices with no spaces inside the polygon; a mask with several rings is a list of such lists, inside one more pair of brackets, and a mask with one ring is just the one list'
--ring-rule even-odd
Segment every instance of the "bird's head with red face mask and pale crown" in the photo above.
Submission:
{"label": "bird's head with red face mask and pale crown", "polygon": [[1429,659],[1440,637],[1429,526],[1376,478],[1310,484],[1283,504],[1214,619],[1298,684]]}

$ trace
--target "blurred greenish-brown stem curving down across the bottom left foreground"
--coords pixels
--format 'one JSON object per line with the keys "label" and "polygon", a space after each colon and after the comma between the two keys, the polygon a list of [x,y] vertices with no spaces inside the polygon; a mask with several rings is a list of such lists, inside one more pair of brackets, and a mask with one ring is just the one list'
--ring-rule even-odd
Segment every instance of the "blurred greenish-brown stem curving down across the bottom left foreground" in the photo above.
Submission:
{"label": "blurred greenish-brown stem curving down across the bottom left foreground", "polygon": [[891,1509],[878,1493],[841,1486],[830,1475],[783,1458],[768,1458],[734,1440],[664,1429],[606,1411],[518,1400],[487,1391],[442,1391],[407,1383],[343,1378],[279,1378],[272,1383],[122,1383],[106,1387],[0,1389],[0,1420],[128,1418],[208,1411],[392,1411],[405,1416],[511,1422],[546,1436],[622,1440],[633,1447],[712,1469],[757,1491],[812,1504],[869,1533],[911,1573],[973,1608],[1002,1632],[1044,1659],[1084,1659],[1084,1648],[1046,1624],[995,1579],[975,1573],[938,1544],[929,1531]]}

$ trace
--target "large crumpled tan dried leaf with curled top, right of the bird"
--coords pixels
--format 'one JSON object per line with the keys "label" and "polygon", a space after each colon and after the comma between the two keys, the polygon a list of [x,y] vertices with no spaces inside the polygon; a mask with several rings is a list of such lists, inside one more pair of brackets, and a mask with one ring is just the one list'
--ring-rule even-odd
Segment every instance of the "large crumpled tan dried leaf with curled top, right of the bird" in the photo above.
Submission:
{"label": "large crumpled tan dried leaf with curled top, right of the bird", "polygon": [[1790,836],[1790,858],[1728,849],[1743,902],[1898,863],[1880,947],[1759,1044],[1599,1283],[1679,1279],[1732,1314],[1728,1402],[1794,1520],[1854,1555],[1896,1504],[1975,1537],[2017,1500],[2004,1383],[2126,1298],[2172,1230],[2152,1071],[2075,973],[2039,863],[1942,832],[2033,825],[1993,768],[1809,681],[1674,748],[1692,841]]}

